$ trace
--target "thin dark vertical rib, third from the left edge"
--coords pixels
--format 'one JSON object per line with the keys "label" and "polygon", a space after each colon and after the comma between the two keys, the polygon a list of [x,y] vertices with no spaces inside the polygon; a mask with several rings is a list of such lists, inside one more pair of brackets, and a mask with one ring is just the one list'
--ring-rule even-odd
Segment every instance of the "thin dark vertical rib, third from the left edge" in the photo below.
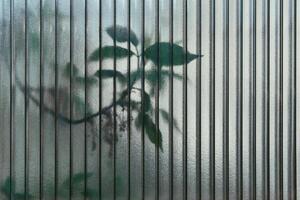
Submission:
{"label": "thin dark vertical rib, third from the left edge", "polygon": [[43,155],[44,155],[44,51],[43,51],[43,44],[44,44],[44,22],[43,22],[43,0],[40,0],[40,182],[39,182],[39,193],[40,193],[40,200],[44,198],[43,195],[43,169],[44,169],[44,162],[43,162]]}

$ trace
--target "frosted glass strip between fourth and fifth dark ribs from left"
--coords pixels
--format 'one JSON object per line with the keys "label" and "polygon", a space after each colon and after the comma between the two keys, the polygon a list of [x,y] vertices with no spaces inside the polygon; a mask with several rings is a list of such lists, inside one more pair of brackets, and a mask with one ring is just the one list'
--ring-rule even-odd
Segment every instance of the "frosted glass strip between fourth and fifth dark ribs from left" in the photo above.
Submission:
{"label": "frosted glass strip between fourth and fifth dark ribs from left", "polygon": [[[57,112],[70,118],[70,74],[66,73],[70,63],[70,2],[59,2],[57,14]],[[69,197],[70,187],[70,124],[57,123],[57,184],[58,192]],[[59,196],[59,195],[57,195]]]}

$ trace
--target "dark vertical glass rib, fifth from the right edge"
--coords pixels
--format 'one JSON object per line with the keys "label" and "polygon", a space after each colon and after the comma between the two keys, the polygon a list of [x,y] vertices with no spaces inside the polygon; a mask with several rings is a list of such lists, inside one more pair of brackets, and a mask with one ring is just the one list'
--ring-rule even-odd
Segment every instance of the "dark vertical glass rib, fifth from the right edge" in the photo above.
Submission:
{"label": "dark vertical glass rib, fifth from the right edge", "polygon": [[243,0],[238,3],[237,198],[243,199]]}

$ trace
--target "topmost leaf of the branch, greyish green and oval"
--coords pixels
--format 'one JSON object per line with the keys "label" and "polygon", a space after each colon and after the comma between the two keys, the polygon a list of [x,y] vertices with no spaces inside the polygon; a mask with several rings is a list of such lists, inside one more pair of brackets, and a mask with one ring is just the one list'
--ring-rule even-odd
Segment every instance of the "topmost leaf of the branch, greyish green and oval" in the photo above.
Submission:
{"label": "topmost leaf of the branch, greyish green and oval", "polygon": [[132,30],[130,30],[129,32],[128,28],[125,26],[116,25],[115,28],[114,26],[111,26],[106,29],[106,32],[112,39],[114,39],[115,36],[117,42],[127,42],[130,36],[130,42],[134,46],[137,46],[139,44],[139,40],[136,34]]}

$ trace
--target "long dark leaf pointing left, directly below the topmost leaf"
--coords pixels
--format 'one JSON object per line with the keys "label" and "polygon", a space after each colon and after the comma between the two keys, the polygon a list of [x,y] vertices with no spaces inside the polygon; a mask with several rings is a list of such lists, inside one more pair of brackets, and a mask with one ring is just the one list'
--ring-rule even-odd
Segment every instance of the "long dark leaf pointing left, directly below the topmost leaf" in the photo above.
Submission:
{"label": "long dark leaf pointing left, directly below the topmost leaf", "polygon": [[[115,54],[116,53],[116,54]],[[109,58],[114,58],[116,59],[121,59],[121,58],[126,58],[126,57],[131,57],[134,55],[132,51],[129,51],[128,49],[125,49],[123,47],[119,46],[105,46],[101,49],[101,56],[102,60],[104,59],[109,59]],[[89,57],[90,61],[98,61],[99,60],[99,48],[96,49]]]}

